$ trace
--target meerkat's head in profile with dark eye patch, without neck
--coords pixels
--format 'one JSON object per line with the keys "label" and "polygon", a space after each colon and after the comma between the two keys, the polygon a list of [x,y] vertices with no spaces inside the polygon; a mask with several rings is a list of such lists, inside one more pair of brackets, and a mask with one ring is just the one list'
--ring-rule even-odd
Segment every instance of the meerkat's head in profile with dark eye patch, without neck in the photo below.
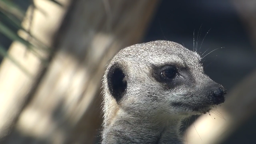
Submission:
{"label": "meerkat's head in profile with dark eye patch, without neck", "polygon": [[103,87],[105,124],[120,110],[162,119],[202,114],[224,102],[226,94],[204,74],[196,52],[169,41],[119,51],[107,67]]}

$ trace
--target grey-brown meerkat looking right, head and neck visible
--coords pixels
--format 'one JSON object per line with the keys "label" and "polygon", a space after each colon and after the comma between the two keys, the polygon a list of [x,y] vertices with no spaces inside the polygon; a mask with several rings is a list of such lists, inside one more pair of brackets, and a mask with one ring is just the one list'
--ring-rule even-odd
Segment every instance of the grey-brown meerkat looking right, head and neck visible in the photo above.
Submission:
{"label": "grey-brown meerkat looking right, head and neck visible", "polygon": [[183,143],[182,119],[225,101],[201,60],[170,41],[119,51],[103,76],[102,143]]}

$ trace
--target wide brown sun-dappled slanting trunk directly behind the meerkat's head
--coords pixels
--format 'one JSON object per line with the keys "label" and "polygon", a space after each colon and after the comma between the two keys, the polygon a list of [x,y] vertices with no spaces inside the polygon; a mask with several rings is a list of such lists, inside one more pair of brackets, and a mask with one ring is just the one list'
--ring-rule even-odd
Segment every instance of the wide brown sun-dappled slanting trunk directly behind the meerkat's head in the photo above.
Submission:
{"label": "wide brown sun-dappled slanting trunk directly behind the meerkat's head", "polygon": [[[53,39],[50,65],[5,142],[94,142],[101,125],[99,94],[106,63],[123,47],[140,41],[157,3],[72,1]],[[49,7],[43,8],[50,13],[47,17],[54,15]],[[33,23],[33,28],[38,25]],[[29,138],[17,138],[17,133]]]}

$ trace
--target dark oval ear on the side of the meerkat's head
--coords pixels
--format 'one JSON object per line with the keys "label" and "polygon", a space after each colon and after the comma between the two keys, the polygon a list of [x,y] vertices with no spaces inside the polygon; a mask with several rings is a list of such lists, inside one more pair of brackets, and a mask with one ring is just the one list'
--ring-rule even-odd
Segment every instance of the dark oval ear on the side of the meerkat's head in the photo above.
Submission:
{"label": "dark oval ear on the side of the meerkat's head", "polygon": [[109,68],[107,82],[110,94],[117,102],[120,101],[127,88],[125,73],[120,64],[115,63]]}

